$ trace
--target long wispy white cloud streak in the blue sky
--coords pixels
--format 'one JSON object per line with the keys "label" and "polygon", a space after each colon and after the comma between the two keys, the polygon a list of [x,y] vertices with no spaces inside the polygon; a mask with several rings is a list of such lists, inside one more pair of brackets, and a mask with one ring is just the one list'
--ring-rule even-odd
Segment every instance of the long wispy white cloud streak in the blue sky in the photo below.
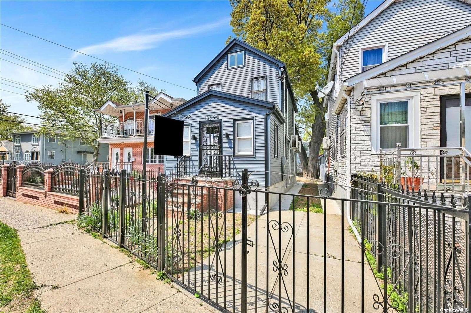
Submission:
{"label": "long wispy white cloud streak in the blue sky", "polygon": [[[157,32],[152,34],[133,34],[123,37],[118,37],[105,41],[97,45],[82,47],[78,49],[83,53],[89,55],[100,55],[108,51],[140,51],[155,47],[158,43],[169,39],[183,38],[205,31],[211,31],[222,25],[227,25],[229,18],[222,19],[215,23],[203,24],[200,26],[190,26],[175,31]],[[74,52],[72,59],[80,55]]]}

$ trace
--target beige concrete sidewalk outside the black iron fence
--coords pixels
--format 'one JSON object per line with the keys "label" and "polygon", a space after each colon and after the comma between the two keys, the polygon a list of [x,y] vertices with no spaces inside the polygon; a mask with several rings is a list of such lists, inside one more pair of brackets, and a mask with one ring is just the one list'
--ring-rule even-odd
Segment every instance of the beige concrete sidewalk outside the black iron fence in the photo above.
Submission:
{"label": "beige concrete sidewalk outside the black iron fence", "polygon": [[[75,216],[0,198],[0,219],[16,228],[41,308],[55,312],[216,312],[158,281],[126,254],[64,223]],[[59,223],[59,224],[57,224]]]}

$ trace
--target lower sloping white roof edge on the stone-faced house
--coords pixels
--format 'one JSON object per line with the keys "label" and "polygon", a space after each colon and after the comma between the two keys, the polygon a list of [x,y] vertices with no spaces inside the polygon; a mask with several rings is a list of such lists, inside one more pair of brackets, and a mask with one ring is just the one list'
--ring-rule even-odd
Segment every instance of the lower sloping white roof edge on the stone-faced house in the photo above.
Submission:
{"label": "lower sloping white roof edge on the stone-faced house", "polygon": [[370,79],[390,70],[394,70],[398,66],[404,65],[426,55],[430,55],[437,50],[443,49],[450,45],[453,45],[455,42],[462,39],[468,38],[471,36],[471,25],[466,26],[458,31],[452,32],[447,36],[441,37],[437,40],[434,40],[422,47],[418,47],[412,51],[409,51],[403,55],[399,55],[394,59],[391,59],[385,63],[375,66],[369,70],[365,70],[355,76],[352,76],[346,80],[347,86],[353,86],[363,81],[365,79]]}

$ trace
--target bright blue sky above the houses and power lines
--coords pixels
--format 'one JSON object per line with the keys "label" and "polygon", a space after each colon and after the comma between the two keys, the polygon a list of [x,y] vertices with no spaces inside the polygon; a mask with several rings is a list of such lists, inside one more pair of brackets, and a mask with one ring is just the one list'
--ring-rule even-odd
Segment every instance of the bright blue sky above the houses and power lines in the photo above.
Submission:
{"label": "bright blue sky above the houses and power lines", "polygon": [[[368,14],[382,1],[370,0]],[[137,70],[195,89],[192,79],[224,47],[232,35],[228,1],[1,1],[1,23]],[[1,26],[0,47],[56,70],[68,72],[72,62],[96,60]],[[1,51],[3,59],[40,70]],[[31,86],[56,85],[58,79],[0,60],[2,78]],[[138,78],[190,99],[196,92],[120,69],[130,82]],[[51,74],[53,75],[53,74]],[[61,77],[56,75],[57,77]],[[1,89],[23,94],[1,80]],[[18,86],[22,87],[22,86]],[[37,103],[0,91],[3,102],[17,113],[39,115]],[[28,118],[31,123],[39,119]]]}

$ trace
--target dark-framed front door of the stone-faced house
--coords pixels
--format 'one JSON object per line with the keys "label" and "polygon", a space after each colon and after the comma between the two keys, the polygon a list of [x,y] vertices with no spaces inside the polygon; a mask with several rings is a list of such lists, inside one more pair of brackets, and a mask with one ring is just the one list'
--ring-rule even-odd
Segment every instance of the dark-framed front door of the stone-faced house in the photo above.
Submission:
{"label": "dark-framed front door of the stone-faced house", "polygon": [[[465,138],[466,149],[471,149],[471,94],[465,96]],[[460,96],[447,95],[440,98],[440,146],[447,148],[461,147],[460,135]],[[458,150],[448,151],[449,155],[459,154]],[[445,166],[443,164],[445,162]],[[443,157],[440,166],[440,179],[460,180],[460,157]]]}

